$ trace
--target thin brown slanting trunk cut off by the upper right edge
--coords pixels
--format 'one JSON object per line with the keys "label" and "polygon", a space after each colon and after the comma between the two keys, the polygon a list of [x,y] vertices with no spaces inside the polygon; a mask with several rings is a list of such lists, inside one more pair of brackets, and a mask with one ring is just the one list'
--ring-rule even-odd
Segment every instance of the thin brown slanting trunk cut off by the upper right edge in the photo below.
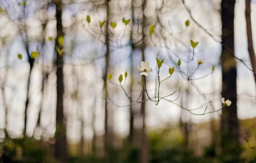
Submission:
{"label": "thin brown slanting trunk cut off by the upper right edge", "polygon": [[256,58],[253,49],[253,36],[252,36],[252,24],[251,24],[251,3],[250,0],[245,0],[245,20],[247,29],[247,42],[248,42],[248,52],[250,55],[251,64],[254,72],[254,81],[256,85]]}

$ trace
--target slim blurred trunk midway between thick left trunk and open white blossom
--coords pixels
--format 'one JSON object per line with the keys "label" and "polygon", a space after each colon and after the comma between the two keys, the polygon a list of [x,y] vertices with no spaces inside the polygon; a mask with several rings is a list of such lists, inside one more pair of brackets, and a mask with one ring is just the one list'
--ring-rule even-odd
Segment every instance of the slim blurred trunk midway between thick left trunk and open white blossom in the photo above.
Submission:
{"label": "slim blurred trunk midway between thick left trunk and open white blossom", "polygon": [[109,149],[111,147],[111,140],[110,140],[110,126],[108,124],[109,121],[109,112],[108,112],[108,89],[107,89],[107,73],[109,73],[110,67],[109,67],[109,63],[110,63],[110,42],[109,42],[109,32],[108,32],[108,24],[109,24],[109,1],[110,0],[106,0],[106,6],[107,6],[107,29],[106,29],[106,67],[105,67],[105,74],[104,74],[104,88],[105,88],[105,135],[104,135],[104,153],[105,153],[105,159],[107,160],[109,158]]}

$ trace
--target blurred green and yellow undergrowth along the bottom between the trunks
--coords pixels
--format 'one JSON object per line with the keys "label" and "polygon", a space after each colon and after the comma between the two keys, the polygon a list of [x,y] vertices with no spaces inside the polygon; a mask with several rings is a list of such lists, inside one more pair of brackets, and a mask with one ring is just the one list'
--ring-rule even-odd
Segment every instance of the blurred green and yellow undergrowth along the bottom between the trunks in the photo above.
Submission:
{"label": "blurred green and yellow undergrowth along the bottom between the trunks", "polygon": [[[240,120],[242,133],[254,133],[255,121],[256,118],[250,121]],[[200,126],[205,124],[200,124]],[[235,156],[240,153],[242,153],[241,158],[236,163],[256,163],[256,150],[248,148],[246,144],[235,150],[231,147],[230,150],[234,153],[232,156],[223,156],[216,150],[216,144],[205,147],[200,156],[196,155],[196,149],[191,145],[186,145],[179,127],[152,131],[148,134],[148,138],[150,163],[234,163],[234,160],[237,159]],[[255,142],[255,138],[250,140],[252,140],[252,144]],[[92,152],[78,154],[73,150],[79,151],[79,148],[70,146],[69,163],[140,163],[140,148],[131,147],[126,139],[122,142],[122,148],[110,149],[107,160]],[[0,143],[0,157],[2,157],[0,163],[58,163],[53,156],[53,145],[34,138],[6,138]]]}

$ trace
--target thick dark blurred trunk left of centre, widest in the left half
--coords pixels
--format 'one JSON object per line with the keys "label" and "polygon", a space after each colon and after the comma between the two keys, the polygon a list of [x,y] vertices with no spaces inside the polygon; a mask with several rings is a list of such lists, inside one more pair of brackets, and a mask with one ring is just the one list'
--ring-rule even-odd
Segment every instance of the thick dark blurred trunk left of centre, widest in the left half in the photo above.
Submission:
{"label": "thick dark blurred trunk left of centre, widest in the left half", "polygon": [[[56,44],[62,48],[58,43],[58,38],[63,36],[62,31],[62,3],[60,0],[56,0],[56,19],[57,19],[57,39]],[[63,114],[63,94],[64,94],[64,83],[63,83],[63,58],[57,53],[56,59],[57,66],[57,108],[56,108],[56,142],[55,142],[55,157],[62,163],[67,163],[68,152],[67,152],[67,138],[66,138],[66,125],[64,123]]]}

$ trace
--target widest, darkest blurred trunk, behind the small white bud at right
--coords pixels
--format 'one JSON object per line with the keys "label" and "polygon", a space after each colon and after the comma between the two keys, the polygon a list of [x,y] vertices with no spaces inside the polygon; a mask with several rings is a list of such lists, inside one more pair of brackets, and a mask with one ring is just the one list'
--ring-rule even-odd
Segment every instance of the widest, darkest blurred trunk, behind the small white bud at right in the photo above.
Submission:
{"label": "widest, darkest blurred trunk, behind the small white bud at right", "polygon": [[[222,110],[221,148],[223,162],[238,163],[240,149],[238,142],[237,117],[237,68],[234,51],[234,17],[235,0],[222,0],[222,97],[232,101],[231,106]],[[225,46],[225,47],[224,47]],[[229,49],[229,50],[227,50]]]}

